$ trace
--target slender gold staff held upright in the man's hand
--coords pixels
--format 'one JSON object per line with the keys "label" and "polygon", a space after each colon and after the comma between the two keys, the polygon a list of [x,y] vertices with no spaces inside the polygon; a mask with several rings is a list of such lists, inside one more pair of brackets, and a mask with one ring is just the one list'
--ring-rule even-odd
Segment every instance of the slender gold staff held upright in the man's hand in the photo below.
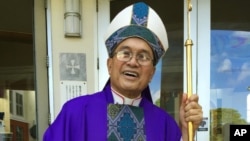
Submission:
{"label": "slender gold staff held upright in the man's hand", "polygon": [[[190,12],[192,11],[191,0],[187,0],[187,40],[186,46],[186,73],[187,73],[187,95],[188,98],[193,94],[192,92],[192,46],[193,41],[190,39]],[[188,140],[193,141],[193,124],[188,122]]]}

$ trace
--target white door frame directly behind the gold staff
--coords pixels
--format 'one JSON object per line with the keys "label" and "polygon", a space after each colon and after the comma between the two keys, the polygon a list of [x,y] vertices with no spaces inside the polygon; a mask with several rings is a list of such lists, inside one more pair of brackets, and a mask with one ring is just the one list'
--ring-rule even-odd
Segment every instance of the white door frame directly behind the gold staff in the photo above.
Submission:
{"label": "white door frame directly behind the gold staff", "polygon": [[[184,43],[187,39],[187,0],[184,2]],[[210,0],[192,0],[190,13],[192,46],[192,84],[193,93],[199,95],[199,104],[203,110],[203,122],[206,129],[199,127],[197,141],[210,140]],[[206,18],[204,18],[206,17]],[[204,67],[206,64],[206,67]],[[184,68],[186,68],[186,51],[184,50]],[[184,69],[184,92],[187,92],[186,70]],[[200,130],[201,129],[201,130]]]}

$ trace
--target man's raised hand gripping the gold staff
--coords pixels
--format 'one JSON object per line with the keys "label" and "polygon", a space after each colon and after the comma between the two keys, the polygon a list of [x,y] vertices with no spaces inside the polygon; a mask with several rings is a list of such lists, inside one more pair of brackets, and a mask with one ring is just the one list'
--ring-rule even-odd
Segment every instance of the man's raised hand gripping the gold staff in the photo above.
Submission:
{"label": "man's raised hand gripping the gold staff", "polygon": [[199,97],[196,94],[187,97],[183,94],[180,107],[180,127],[183,141],[188,141],[188,122],[193,123],[193,133],[198,129],[203,119],[202,107],[198,103]]}

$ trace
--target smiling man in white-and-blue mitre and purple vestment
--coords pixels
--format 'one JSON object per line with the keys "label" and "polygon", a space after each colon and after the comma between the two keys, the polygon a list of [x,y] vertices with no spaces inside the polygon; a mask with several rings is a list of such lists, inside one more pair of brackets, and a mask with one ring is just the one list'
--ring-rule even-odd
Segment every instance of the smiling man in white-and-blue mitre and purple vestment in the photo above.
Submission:
{"label": "smiling man in white-and-blue mitre and purple vestment", "polygon": [[100,92],[68,101],[44,134],[44,141],[184,141],[187,122],[198,128],[198,96],[184,95],[181,129],[152,103],[155,65],[168,47],[165,27],[145,3],[135,3],[111,22],[106,35],[110,79]]}

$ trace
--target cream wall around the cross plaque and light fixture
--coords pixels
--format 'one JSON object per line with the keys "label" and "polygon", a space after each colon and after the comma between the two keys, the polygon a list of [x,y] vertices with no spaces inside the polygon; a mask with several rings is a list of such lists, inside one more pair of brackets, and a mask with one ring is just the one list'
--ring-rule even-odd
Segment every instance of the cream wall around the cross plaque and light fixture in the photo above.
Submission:
{"label": "cream wall around the cross plaque and light fixture", "polygon": [[[64,36],[64,1],[50,1],[50,24],[51,40],[49,41],[52,52],[52,77],[53,95],[52,105],[54,115],[58,114],[63,105],[62,92],[60,91],[60,54],[61,53],[84,53],[86,54],[87,93],[95,92],[97,88],[97,11],[95,0],[81,0],[81,27],[80,38]],[[53,113],[52,113],[53,114]],[[53,119],[52,119],[53,121]]]}

